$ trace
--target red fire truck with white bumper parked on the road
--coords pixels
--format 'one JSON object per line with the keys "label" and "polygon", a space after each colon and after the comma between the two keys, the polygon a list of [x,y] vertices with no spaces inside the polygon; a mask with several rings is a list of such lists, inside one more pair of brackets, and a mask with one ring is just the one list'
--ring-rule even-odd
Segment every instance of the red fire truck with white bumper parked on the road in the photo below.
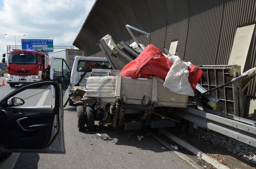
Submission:
{"label": "red fire truck with white bumper parked on the road", "polygon": [[5,79],[10,87],[22,83],[43,80],[44,69],[49,64],[49,56],[44,50],[13,49],[8,59],[8,75]]}

